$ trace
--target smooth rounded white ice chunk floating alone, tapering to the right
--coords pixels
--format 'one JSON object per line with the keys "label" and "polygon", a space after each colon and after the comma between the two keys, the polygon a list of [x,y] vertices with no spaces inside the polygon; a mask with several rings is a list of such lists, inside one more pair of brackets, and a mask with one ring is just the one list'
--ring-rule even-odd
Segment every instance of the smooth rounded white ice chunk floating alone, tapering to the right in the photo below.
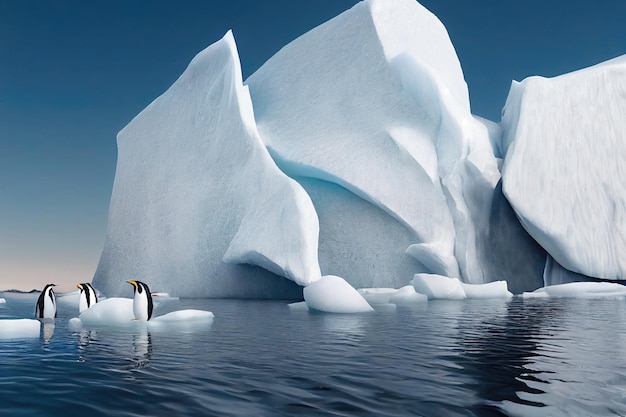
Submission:
{"label": "smooth rounded white ice chunk floating alone, tapering to the right", "polygon": [[324,275],[304,288],[304,300],[313,310],[327,313],[363,313],[373,311],[365,298],[343,278]]}

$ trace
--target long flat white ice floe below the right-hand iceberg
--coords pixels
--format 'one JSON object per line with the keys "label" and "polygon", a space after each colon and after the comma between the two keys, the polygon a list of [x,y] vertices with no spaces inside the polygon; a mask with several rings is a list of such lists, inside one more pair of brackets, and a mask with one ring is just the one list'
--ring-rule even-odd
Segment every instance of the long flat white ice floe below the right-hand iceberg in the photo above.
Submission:
{"label": "long flat white ice floe below the right-hand iceberg", "polygon": [[549,285],[533,292],[525,292],[522,298],[624,298],[626,286],[614,282],[570,282]]}

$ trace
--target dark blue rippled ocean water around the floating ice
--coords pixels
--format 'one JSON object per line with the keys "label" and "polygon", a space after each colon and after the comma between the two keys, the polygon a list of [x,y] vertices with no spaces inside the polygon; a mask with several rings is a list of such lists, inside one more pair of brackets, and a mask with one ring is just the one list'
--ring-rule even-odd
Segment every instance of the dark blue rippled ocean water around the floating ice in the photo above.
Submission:
{"label": "dark blue rippled ocean water around the floating ice", "polygon": [[[0,319],[32,317],[5,294]],[[430,301],[337,315],[179,300],[210,325],[0,340],[2,416],[626,415],[626,301]]]}

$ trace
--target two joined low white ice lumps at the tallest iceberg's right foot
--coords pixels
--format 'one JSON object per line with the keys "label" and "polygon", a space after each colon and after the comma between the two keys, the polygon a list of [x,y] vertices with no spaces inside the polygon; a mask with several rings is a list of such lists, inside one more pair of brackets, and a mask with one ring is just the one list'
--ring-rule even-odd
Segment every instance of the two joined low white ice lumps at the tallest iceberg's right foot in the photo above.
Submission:
{"label": "two joined low white ice lumps at the tallest iceberg's right foot", "polygon": [[458,278],[436,274],[415,274],[411,284],[415,291],[425,294],[429,300],[463,300],[512,298],[506,281],[493,281],[486,284],[466,284]]}

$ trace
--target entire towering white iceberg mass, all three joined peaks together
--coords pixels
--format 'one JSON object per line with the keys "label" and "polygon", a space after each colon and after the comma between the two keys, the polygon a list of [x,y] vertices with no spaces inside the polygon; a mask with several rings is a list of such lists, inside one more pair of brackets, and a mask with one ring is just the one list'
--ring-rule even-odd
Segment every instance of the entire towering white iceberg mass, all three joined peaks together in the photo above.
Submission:
{"label": "entire towering white iceberg mass, all three joined peaks together", "polygon": [[242,79],[235,35],[118,135],[94,285],[293,299],[323,276],[513,294],[626,272],[626,60],[514,81],[475,117],[443,24],[367,0]]}

